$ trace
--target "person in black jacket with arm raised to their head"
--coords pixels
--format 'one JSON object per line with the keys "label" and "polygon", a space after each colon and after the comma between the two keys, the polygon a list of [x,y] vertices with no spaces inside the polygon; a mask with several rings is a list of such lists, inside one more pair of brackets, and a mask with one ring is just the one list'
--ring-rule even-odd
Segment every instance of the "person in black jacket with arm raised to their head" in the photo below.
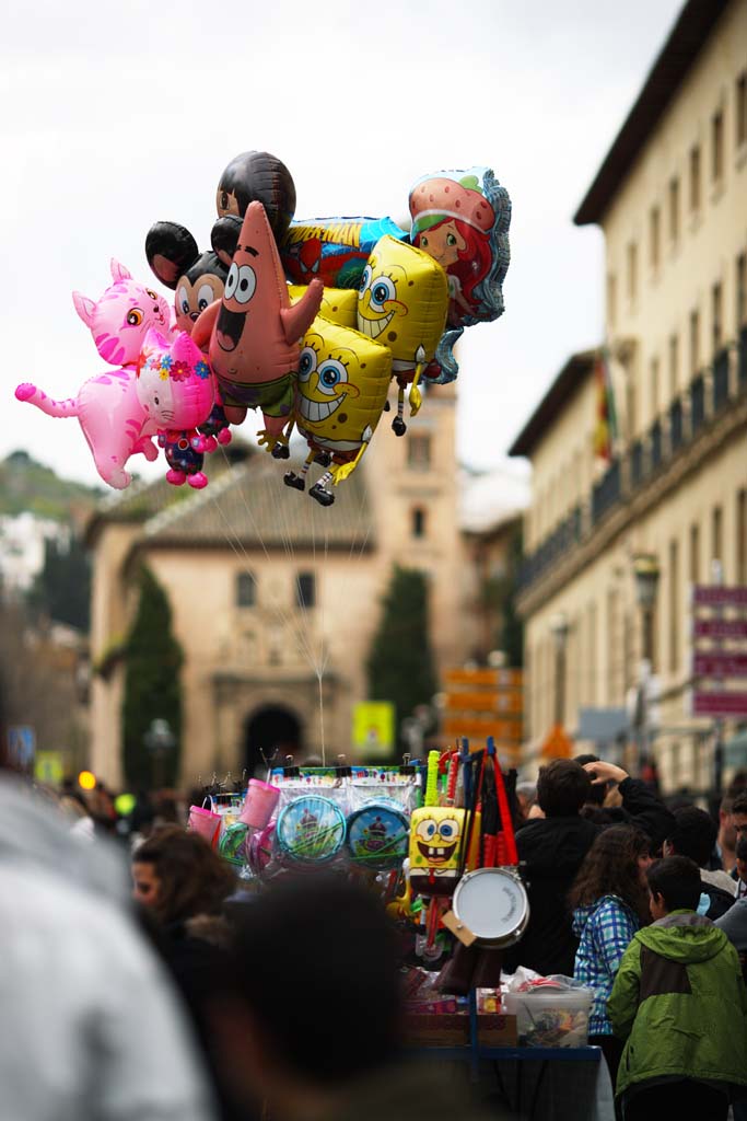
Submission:
{"label": "person in black jacket with arm raised to their head", "polygon": [[674,821],[669,809],[622,767],[601,761],[582,767],[573,759],[555,759],[543,767],[536,796],[544,817],[529,822],[516,833],[530,920],[521,942],[506,954],[506,970],[525,965],[545,976],[573,975],[578,939],[567,897],[583,858],[605,827],[580,816],[581,807],[589,802],[592,780],[595,785],[619,785],[626,819],[651,839],[652,849],[659,847],[672,831]]}

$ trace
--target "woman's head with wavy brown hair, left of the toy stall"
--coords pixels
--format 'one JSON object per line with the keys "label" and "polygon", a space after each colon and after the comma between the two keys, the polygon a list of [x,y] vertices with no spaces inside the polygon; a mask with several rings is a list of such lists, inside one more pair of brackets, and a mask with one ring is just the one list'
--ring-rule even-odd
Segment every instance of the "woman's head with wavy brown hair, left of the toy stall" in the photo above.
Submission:
{"label": "woman's head with wavy brown hair, left of the toy stall", "polygon": [[197,833],[165,825],[132,855],[132,896],[162,923],[217,915],[234,889],[228,864]]}

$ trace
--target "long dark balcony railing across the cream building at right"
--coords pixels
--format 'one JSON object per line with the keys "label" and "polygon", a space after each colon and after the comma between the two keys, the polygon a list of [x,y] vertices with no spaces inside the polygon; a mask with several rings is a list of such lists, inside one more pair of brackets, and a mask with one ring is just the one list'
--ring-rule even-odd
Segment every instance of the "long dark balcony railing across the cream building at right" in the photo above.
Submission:
{"label": "long dark balcony railing across the cream building at right", "polygon": [[[735,350],[736,379],[730,379],[730,351]],[[747,325],[739,333],[737,346],[723,348],[708,372],[695,374],[681,397],[656,419],[644,437],[633,441],[623,456],[611,461],[601,479],[591,488],[590,502],[579,503],[551,534],[524,557],[520,587],[525,589],[558,559],[594,532],[597,524],[623,499],[645,485],[665,461],[694,439],[710,419],[730,400],[747,395]],[[685,406],[687,401],[687,406]],[[585,517],[585,509],[588,510]]]}

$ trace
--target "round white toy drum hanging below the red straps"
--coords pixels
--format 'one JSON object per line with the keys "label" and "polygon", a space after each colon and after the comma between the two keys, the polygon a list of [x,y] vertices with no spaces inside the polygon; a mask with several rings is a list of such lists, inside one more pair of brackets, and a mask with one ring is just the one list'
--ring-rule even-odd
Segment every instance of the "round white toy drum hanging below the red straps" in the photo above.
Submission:
{"label": "round white toy drum hanging below the red straps", "polygon": [[513,946],[529,923],[524,884],[505,868],[478,868],[463,876],[454,891],[452,910],[480,946],[493,949]]}

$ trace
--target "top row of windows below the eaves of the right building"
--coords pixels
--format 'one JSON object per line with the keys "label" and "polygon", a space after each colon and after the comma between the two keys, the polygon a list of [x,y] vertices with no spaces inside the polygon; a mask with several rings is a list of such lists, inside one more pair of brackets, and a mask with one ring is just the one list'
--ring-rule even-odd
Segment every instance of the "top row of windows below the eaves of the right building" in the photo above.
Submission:
{"label": "top row of windows below the eaves of the right building", "polygon": [[[747,71],[744,71],[735,82],[735,127],[734,138],[737,150],[747,147]],[[725,109],[719,108],[710,121],[708,149],[708,175],[715,187],[723,182],[725,145],[726,145]],[[695,143],[688,155],[687,172],[687,206],[689,213],[697,215],[703,204],[703,157],[700,143]],[[647,248],[648,265],[655,271],[659,269],[662,256],[662,241],[665,235],[675,245],[681,235],[682,226],[682,188],[679,175],[673,175],[666,186],[664,206],[655,203],[648,211]],[[629,300],[635,300],[638,294],[638,244],[629,241],[625,253],[625,288]],[[617,281],[610,274],[607,278],[607,319],[610,330],[615,330],[617,319]]]}

